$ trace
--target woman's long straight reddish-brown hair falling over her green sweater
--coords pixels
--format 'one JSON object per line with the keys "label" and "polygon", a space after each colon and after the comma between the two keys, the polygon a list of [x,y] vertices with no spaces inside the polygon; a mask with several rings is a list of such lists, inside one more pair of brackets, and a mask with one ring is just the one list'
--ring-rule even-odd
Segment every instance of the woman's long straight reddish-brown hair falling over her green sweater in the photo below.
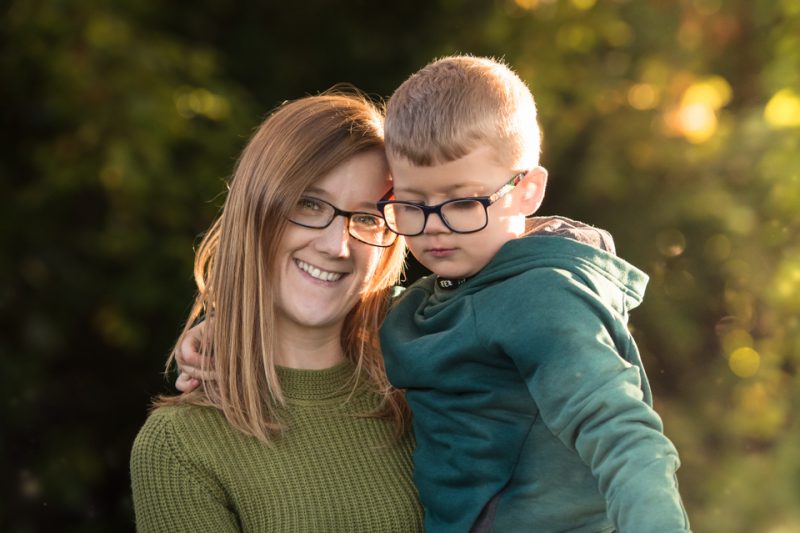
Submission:
{"label": "woman's long straight reddish-brown hair falling over her green sweater", "polygon": [[[275,369],[271,270],[286,214],[310,185],[336,166],[357,154],[383,149],[381,112],[352,92],[284,103],[261,124],[236,164],[222,214],[197,250],[198,293],[180,337],[201,318],[213,317],[206,321],[201,352],[213,353],[216,379],[188,394],[162,396],[156,406],[213,406],[232,426],[264,442],[284,429],[278,416],[284,395]],[[369,415],[393,420],[397,434],[407,427],[408,408],[386,379],[378,327],[403,259],[402,239],[382,249],[375,273],[342,331],[345,356],[357,369],[353,390],[359,376],[371,382],[383,401]],[[174,351],[167,369],[173,363]]]}

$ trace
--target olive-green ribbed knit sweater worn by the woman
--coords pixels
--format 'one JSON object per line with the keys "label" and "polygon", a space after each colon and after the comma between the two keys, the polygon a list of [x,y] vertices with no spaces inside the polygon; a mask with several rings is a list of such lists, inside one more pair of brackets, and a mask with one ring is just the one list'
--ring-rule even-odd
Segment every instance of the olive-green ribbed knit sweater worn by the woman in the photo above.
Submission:
{"label": "olive-green ribbed knit sweater worn by the woman", "polygon": [[368,386],[349,397],[352,372],[279,368],[288,430],[273,446],[216,409],[156,409],[131,453],[137,530],[421,531],[413,439],[355,416],[379,397]]}

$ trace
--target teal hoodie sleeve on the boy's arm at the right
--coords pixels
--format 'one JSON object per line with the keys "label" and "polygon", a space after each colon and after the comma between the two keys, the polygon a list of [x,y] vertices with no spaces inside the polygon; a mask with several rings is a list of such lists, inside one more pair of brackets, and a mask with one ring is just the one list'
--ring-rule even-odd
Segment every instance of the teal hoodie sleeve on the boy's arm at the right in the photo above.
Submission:
{"label": "teal hoodie sleeve on the boy's arm at the right", "polygon": [[498,295],[525,304],[492,328],[502,330],[492,342],[519,369],[549,431],[589,466],[619,531],[689,531],[678,454],[643,399],[626,318],[573,274],[535,275]]}

